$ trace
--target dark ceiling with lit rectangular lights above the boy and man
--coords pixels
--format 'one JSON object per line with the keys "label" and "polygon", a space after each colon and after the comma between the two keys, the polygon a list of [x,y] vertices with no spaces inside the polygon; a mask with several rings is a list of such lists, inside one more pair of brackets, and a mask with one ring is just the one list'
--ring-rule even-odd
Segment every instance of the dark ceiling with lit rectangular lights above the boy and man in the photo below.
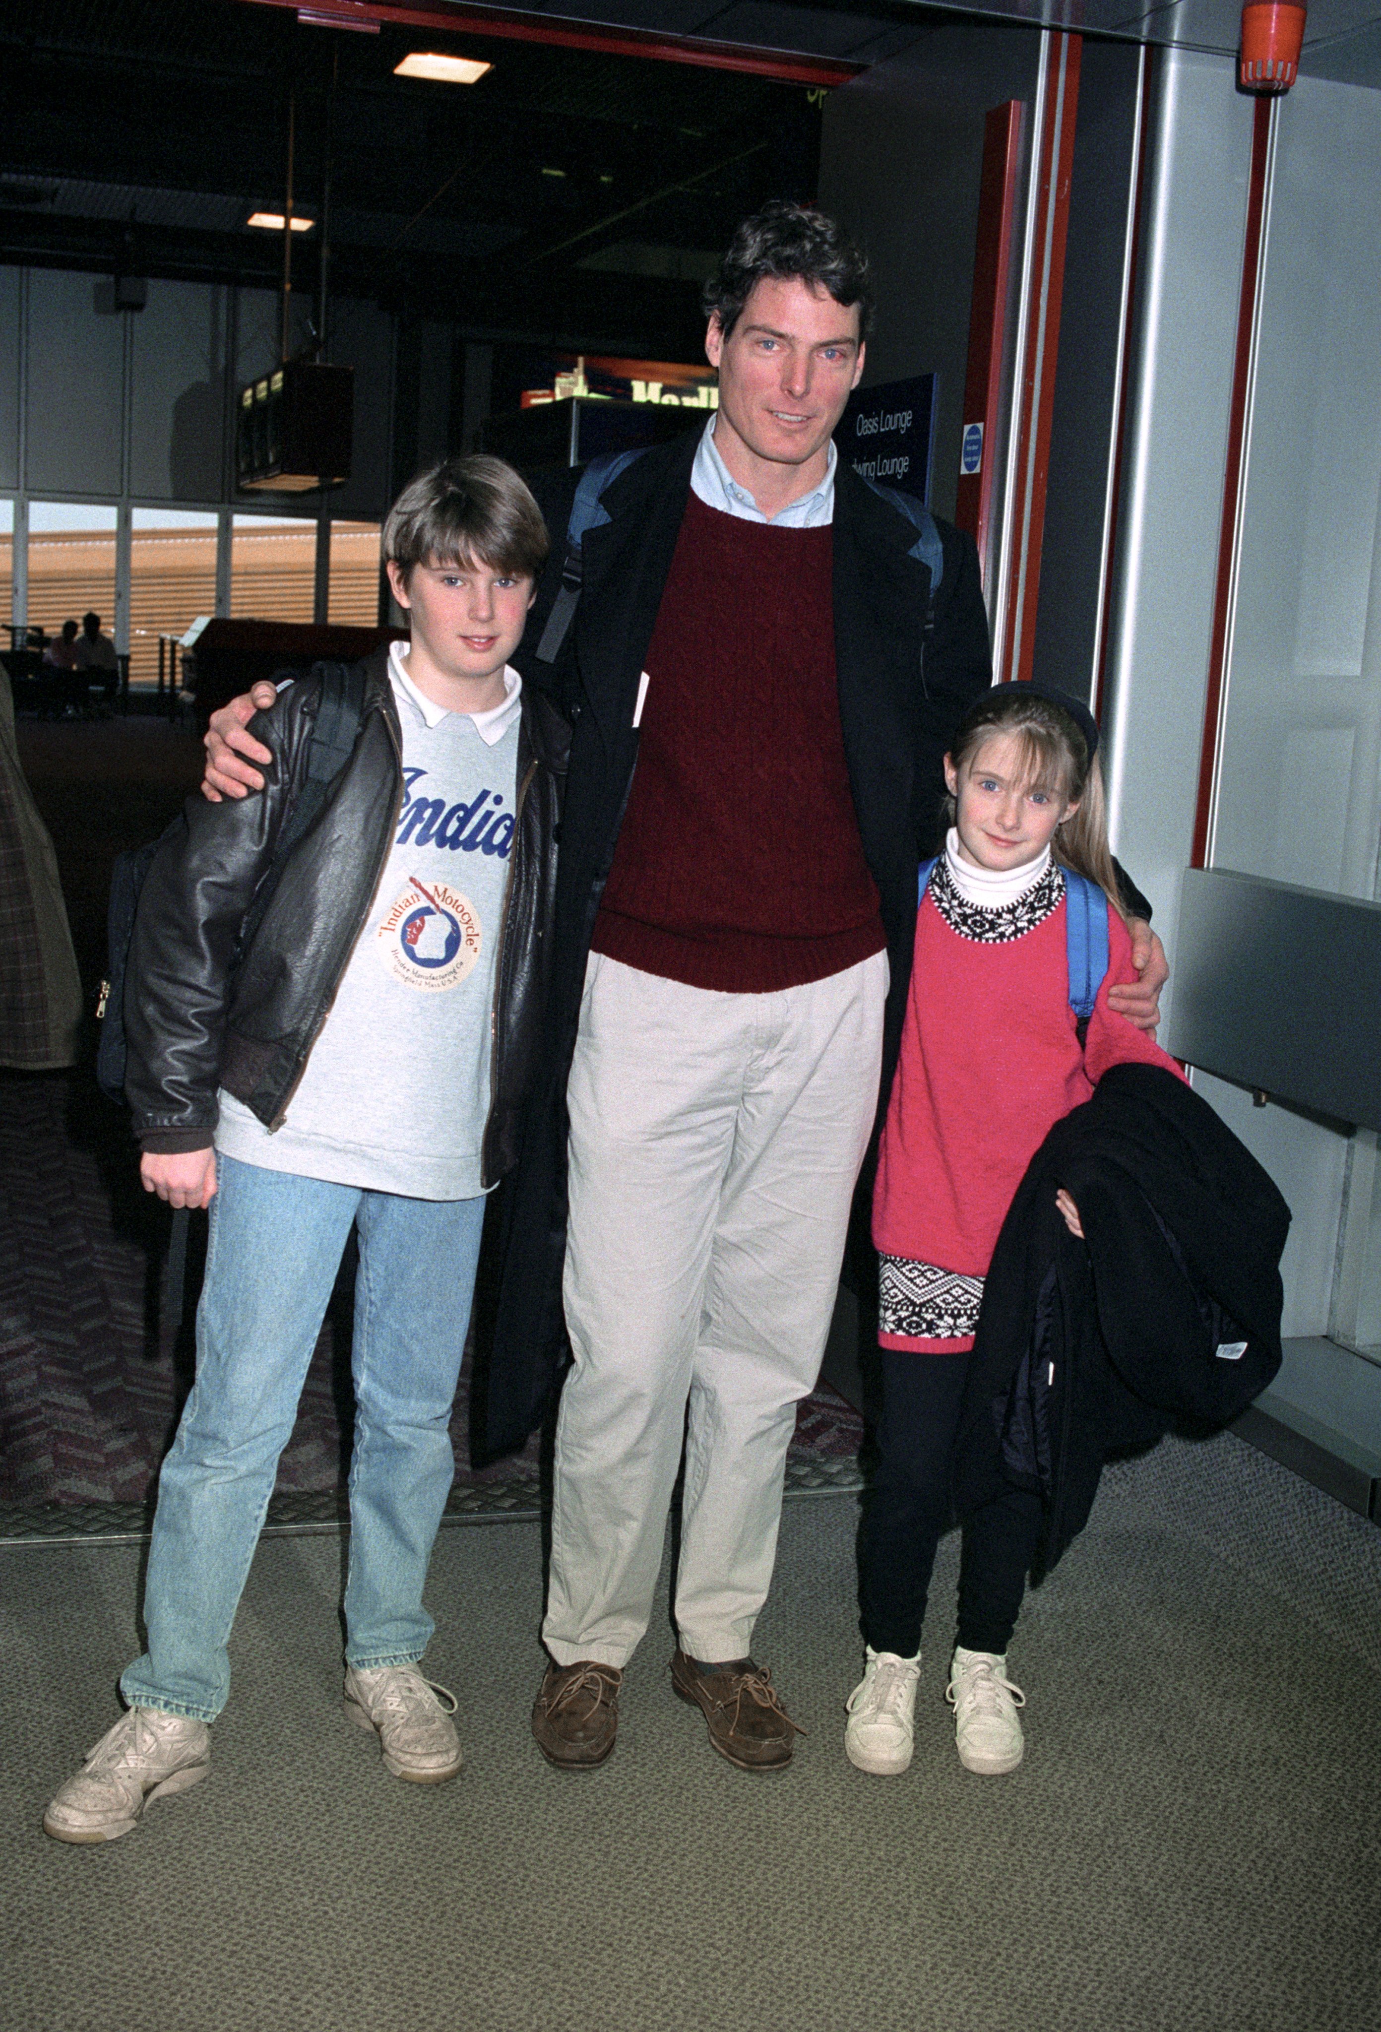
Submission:
{"label": "dark ceiling with lit rectangular lights above the boy and man", "polygon": [[[394,77],[408,49],[494,69]],[[707,254],[814,195],[820,93],[796,83],[242,0],[28,0],[0,26],[0,258],[276,284],[280,236],[244,221],[282,209],[290,98],[317,221],[335,136],[333,291],[475,337],[693,356]],[[311,291],[321,224],[292,258]]]}

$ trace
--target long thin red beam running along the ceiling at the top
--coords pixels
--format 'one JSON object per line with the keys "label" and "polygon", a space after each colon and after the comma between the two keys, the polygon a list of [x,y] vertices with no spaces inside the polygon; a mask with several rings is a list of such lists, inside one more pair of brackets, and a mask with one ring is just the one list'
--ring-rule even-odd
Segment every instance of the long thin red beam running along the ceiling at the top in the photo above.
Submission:
{"label": "long thin red beam running along the ceiling at the top", "polygon": [[394,0],[244,0],[248,6],[299,8],[315,22],[339,20],[341,28],[378,22],[386,28],[437,28],[508,37],[514,43],[548,43],[558,49],[595,49],[609,57],[652,57],[660,63],[693,63],[707,71],[743,71],[786,85],[833,89],[867,69],[839,57],[806,57],[784,49],[751,49],[747,43],[709,43],[695,35],[656,35],[648,28],[617,28],[597,20],[569,20],[561,14],[520,14],[506,6],[394,6]]}

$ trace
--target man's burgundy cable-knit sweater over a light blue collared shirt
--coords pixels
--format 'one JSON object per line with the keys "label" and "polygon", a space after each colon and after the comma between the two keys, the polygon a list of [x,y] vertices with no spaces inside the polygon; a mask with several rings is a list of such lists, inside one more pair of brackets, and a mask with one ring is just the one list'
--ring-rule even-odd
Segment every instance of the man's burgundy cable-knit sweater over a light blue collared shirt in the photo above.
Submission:
{"label": "man's burgundy cable-knit sweater over a light blue collared shirt", "polygon": [[885,945],[835,677],[833,530],[686,502],[593,947],[768,994]]}

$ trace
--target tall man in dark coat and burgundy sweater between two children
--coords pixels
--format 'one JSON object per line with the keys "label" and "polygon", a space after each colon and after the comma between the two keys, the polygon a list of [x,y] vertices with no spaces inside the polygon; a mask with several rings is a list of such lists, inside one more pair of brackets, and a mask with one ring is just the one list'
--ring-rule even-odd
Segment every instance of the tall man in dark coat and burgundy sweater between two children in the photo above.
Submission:
{"label": "tall man in dark coat and burgundy sweater between two children", "polygon": [[[896,1061],[942,756],[991,681],[969,538],[942,528],[926,642],[916,528],[837,463],[869,315],[857,248],[768,205],[707,311],[717,417],[605,490],[554,666],[536,646],[575,475],[548,490],[556,563],[522,660],[573,748],[487,1431],[496,1449],[524,1437],[569,1333],[532,1715],[569,1770],[613,1750],[682,1439],[674,1689],[729,1762],[790,1760],[751,1634]],[[227,770],[213,782],[238,790]],[[1139,947],[1133,1014],[1154,1022],[1164,955],[1149,929]]]}

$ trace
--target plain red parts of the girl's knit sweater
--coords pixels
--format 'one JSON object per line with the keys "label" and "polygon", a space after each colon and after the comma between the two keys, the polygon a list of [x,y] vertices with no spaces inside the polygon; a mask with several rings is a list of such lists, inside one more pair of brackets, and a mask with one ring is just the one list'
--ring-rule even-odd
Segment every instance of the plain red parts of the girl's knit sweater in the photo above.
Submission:
{"label": "plain red parts of the girl's knit sweater", "polygon": [[[885,1256],[987,1276],[1007,1207],[1054,1124],[1111,1065],[1180,1071],[1107,1006],[1109,988],[1135,979],[1127,927],[1113,908],[1107,920],[1109,969],[1080,1051],[1064,902],[1022,937],[987,945],[952,931],[926,890],[873,1189],[873,1242]],[[971,1345],[879,1341],[920,1351]]]}

